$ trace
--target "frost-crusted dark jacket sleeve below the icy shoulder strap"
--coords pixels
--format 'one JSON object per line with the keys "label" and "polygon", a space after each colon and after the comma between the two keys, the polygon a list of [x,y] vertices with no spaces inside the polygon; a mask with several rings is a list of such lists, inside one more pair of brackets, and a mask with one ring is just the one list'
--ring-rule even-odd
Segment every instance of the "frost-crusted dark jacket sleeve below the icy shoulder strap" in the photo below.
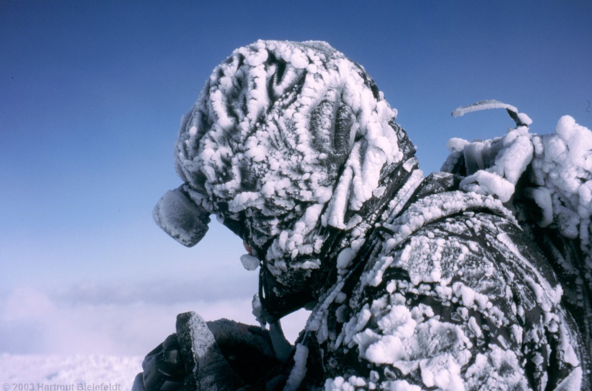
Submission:
{"label": "frost-crusted dark jacket sleeve below the icy shoulder strap", "polygon": [[580,341],[551,268],[515,221],[470,209],[385,238],[349,303],[343,357],[376,384],[580,388]]}

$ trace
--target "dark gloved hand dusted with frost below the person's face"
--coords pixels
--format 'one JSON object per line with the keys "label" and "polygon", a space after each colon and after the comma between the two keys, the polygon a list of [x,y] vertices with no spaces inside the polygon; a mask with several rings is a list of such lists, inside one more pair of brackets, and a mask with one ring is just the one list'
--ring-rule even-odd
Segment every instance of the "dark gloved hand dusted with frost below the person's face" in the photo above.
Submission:
{"label": "dark gloved hand dusted with frost below the person's face", "polygon": [[177,316],[176,331],[146,356],[133,391],[234,391],[281,380],[285,352],[278,360],[269,333],[258,326],[206,323],[186,312]]}

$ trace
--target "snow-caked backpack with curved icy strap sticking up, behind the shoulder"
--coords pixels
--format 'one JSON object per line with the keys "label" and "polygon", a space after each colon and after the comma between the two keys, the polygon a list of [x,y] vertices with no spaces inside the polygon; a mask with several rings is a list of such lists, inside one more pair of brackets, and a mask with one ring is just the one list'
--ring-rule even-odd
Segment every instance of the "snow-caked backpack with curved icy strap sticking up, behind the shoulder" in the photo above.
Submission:
{"label": "snow-caked backpack with curved icy strap sticking up, behind the shoulder", "polygon": [[496,139],[451,139],[442,169],[464,176],[463,190],[492,194],[514,210],[558,275],[564,305],[592,355],[592,132],[564,116],[555,133],[530,133],[532,121],[517,120],[526,114],[491,102],[496,101],[459,108],[453,115],[503,107],[517,126]]}

